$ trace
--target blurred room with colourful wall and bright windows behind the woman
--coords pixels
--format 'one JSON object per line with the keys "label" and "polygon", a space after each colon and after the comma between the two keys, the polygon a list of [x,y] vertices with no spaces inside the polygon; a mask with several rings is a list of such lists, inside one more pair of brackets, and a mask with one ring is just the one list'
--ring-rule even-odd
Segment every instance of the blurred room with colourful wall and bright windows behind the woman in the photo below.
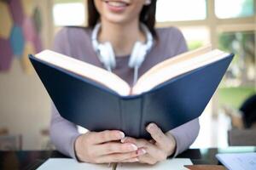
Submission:
{"label": "blurred room with colourful wall and bright windows behind the woman", "polygon": [[[180,28],[190,50],[212,43],[236,54],[192,148],[226,147],[228,132],[245,128],[241,105],[256,93],[255,9],[256,0],[157,1],[156,26]],[[61,27],[86,26],[86,19],[86,0],[0,0],[0,150],[53,147],[49,95],[27,54],[51,48]]]}

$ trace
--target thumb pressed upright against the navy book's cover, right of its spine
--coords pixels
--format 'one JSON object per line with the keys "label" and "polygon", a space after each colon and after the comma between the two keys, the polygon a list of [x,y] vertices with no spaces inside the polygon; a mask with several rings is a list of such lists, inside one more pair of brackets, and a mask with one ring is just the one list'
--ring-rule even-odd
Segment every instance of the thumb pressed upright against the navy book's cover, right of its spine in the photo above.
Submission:
{"label": "thumb pressed upright against the navy book's cover, right of its spine", "polygon": [[156,143],[160,144],[161,147],[165,147],[167,142],[166,134],[163,133],[156,124],[150,123],[146,128],[148,133],[150,133],[151,137],[156,141]]}

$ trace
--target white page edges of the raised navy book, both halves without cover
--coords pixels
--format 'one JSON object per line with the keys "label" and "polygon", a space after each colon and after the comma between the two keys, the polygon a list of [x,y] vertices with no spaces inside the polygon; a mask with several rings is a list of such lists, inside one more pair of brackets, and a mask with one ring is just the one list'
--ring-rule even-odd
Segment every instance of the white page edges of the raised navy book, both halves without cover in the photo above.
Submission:
{"label": "white page edges of the raised navy book, both halves without cover", "polygon": [[227,56],[228,54],[218,49],[211,50],[210,45],[196,49],[192,52],[180,54],[177,57],[166,59],[160,64],[155,65],[138,79],[134,87],[130,87],[127,82],[112,72],[106,71],[95,65],[90,65],[78,59],[73,59],[50,50],[44,50],[35,55],[37,59],[67,71],[71,71],[81,77],[89,78],[92,81],[112,89],[117,94],[124,96],[142,94],[173,77],[195,70],[196,68],[210,64],[219,59],[224,59],[224,57]]}

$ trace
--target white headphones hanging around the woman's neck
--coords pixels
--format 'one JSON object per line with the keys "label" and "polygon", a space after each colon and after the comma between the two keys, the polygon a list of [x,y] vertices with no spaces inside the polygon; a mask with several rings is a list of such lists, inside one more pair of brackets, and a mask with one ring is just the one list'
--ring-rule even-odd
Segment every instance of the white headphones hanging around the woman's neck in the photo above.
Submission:
{"label": "white headphones hanging around the woman's neck", "polygon": [[[112,69],[116,66],[112,45],[110,42],[99,43],[97,41],[97,35],[101,26],[102,25],[100,23],[96,24],[91,34],[91,41],[97,57],[108,71],[112,71]],[[137,82],[138,68],[143,64],[146,55],[153,46],[153,36],[148,30],[148,27],[143,23],[141,23],[140,26],[146,35],[147,42],[135,42],[132,48],[128,65],[129,67],[134,68],[133,84]]]}

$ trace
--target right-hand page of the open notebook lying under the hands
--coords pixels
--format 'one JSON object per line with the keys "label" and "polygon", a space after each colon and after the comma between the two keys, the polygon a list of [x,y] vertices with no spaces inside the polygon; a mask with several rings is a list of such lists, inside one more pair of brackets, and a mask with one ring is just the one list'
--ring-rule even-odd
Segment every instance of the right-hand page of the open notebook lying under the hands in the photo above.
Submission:
{"label": "right-hand page of the open notebook lying under the hands", "polygon": [[141,163],[119,163],[117,170],[186,170],[187,168],[184,165],[193,165],[192,161],[187,158],[174,158],[167,159],[166,161],[160,161],[155,165],[147,165]]}

